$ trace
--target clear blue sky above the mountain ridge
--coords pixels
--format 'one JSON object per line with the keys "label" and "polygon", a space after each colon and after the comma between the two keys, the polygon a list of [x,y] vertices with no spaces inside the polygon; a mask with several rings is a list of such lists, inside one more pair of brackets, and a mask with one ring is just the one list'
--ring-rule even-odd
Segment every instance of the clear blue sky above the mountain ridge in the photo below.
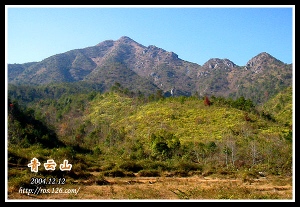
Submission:
{"label": "clear blue sky above the mountain ridge", "polygon": [[292,7],[8,7],[7,63],[123,35],[201,65],[210,58],[245,65],[260,52],[292,63]]}

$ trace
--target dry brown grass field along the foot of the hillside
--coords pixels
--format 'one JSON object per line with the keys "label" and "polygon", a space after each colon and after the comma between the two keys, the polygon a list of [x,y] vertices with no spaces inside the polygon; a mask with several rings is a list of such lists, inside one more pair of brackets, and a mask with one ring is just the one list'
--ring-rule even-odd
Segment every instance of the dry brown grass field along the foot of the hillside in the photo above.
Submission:
{"label": "dry brown grass field along the foot of the hillside", "polygon": [[9,186],[7,199],[292,199],[292,177],[230,179],[215,177],[105,177],[103,180],[67,180],[64,185],[78,193],[19,193]]}

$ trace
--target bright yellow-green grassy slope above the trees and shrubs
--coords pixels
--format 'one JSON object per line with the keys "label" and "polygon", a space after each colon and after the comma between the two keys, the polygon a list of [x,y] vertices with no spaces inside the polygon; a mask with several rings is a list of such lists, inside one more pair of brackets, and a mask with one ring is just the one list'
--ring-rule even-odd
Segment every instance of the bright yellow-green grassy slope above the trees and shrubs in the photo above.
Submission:
{"label": "bright yellow-green grassy slope above the trees and shrubs", "polygon": [[280,124],[236,108],[204,105],[193,98],[166,98],[158,102],[133,106],[132,99],[106,94],[95,98],[89,114],[93,123],[108,121],[116,129],[123,129],[128,136],[144,140],[159,129],[171,131],[180,141],[222,139],[226,134],[250,134],[258,137],[278,135],[286,129]]}

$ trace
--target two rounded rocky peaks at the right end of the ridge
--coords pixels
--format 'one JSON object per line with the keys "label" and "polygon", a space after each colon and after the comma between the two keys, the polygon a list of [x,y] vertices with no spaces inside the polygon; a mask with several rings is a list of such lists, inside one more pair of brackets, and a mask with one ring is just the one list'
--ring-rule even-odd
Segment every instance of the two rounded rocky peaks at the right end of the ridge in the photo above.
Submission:
{"label": "two rounded rocky peaks at the right end of the ridge", "polygon": [[256,103],[266,101],[291,84],[292,64],[266,52],[252,57],[245,66],[235,65],[229,59],[209,59],[198,70],[196,79],[200,95],[245,96]]}

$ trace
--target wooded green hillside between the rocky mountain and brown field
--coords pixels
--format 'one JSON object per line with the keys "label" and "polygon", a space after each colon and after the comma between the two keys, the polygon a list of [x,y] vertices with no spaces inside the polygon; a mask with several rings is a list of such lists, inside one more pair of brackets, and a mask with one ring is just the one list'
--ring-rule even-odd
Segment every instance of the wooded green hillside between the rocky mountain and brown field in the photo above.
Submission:
{"label": "wooded green hillside between the rocky mountain and brown field", "polygon": [[[289,127],[259,115],[249,99],[211,97],[208,104],[197,96],[164,97],[161,91],[144,96],[119,83],[105,93],[77,89],[59,90],[58,98],[22,95],[26,106],[20,110],[51,129],[61,143],[56,148],[46,144],[47,131],[34,138],[40,133],[35,122],[18,124],[8,105],[8,130],[23,132],[8,145],[10,164],[25,164],[32,154],[40,160],[67,158],[77,173],[69,175],[73,178],[92,171],[104,176],[291,173]],[[22,141],[28,137],[30,142]]]}

